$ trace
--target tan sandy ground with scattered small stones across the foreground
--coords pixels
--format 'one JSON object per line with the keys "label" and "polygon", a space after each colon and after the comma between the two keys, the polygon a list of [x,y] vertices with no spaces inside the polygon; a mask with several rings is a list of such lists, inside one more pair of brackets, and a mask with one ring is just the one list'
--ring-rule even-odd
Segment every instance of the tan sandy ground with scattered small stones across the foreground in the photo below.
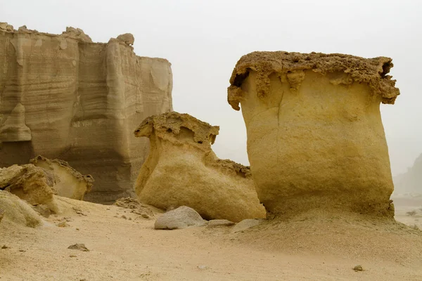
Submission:
{"label": "tan sandy ground with scattered small stones across the foreground", "polygon": [[[129,209],[60,202],[67,211],[39,228],[0,223],[0,280],[422,280],[422,232],[398,223],[304,216],[245,233],[154,230]],[[420,223],[422,211],[406,215],[417,207],[396,206],[397,219]]]}

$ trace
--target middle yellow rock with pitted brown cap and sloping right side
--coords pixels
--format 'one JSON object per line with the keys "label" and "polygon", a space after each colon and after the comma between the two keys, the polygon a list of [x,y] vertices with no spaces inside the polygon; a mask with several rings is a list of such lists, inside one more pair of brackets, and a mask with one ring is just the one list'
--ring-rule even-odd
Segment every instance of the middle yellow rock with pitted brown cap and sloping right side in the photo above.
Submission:
{"label": "middle yellow rock with pitted brown cap and sloping right side", "polygon": [[218,126],[177,112],[145,119],[135,131],[151,142],[136,181],[139,199],[161,209],[185,205],[206,219],[264,217],[249,167],[212,152],[218,131]]}

